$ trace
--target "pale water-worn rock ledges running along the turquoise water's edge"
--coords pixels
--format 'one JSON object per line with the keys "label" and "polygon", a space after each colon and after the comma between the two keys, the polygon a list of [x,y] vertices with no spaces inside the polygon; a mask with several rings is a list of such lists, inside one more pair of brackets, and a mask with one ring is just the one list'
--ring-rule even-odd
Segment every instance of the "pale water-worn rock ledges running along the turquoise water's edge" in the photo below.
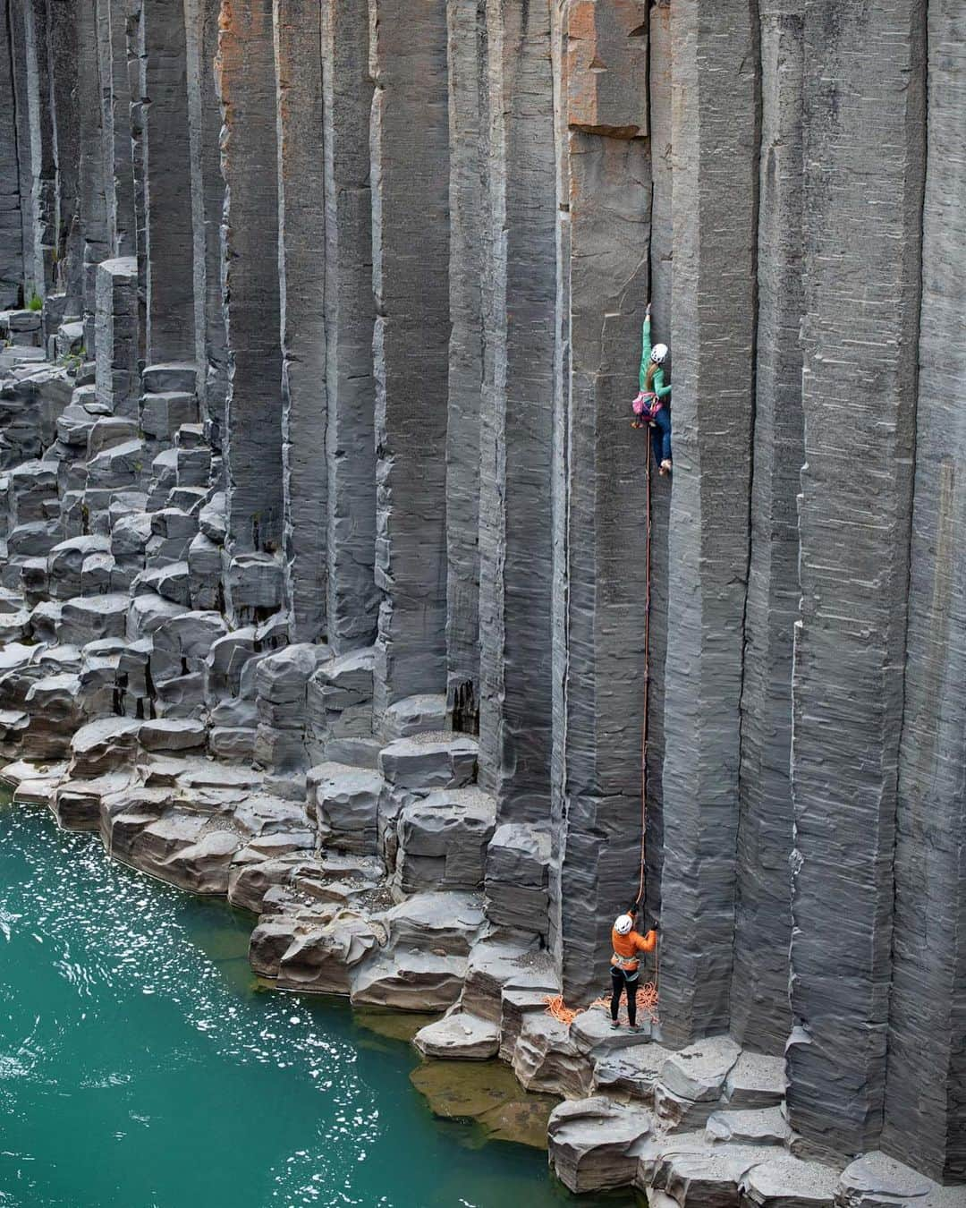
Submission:
{"label": "pale water-worn rock ledges running along the turquoise water's edge", "polygon": [[[334,792],[356,806],[367,792],[363,776],[350,788],[332,763],[312,769],[307,800],[293,800],[296,779],[280,795],[262,772],[158,750],[156,724],[106,719],[76,731],[68,760],[14,761],[0,780],[14,805],[46,806],[59,826],[98,832],[111,858],[250,912],[251,966],[279,989],[443,1012],[415,1033],[424,1058],[499,1056],[524,1090],[563,1100],[547,1142],[551,1168],[572,1192],[636,1187],[654,1208],[962,1203],[961,1191],[881,1154],[817,1161],[788,1126],[781,1058],[743,1052],[727,1036],[674,1052],[659,1027],[613,1032],[599,1007],[571,1024],[553,1018],[547,998],[559,986],[539,939],[487,920],[472,747],[424,732],[380,751],[389,784],[419,801],[449,795],[475,824],[472,843],[464,832],[447,844],[453,863],[475,871],[454,878],[459,888],[429,893],[406,894],[400,876],[386,877],[388,824],[378,854],[353,852],[320,825]],[[397,819],[397,870],[408,834]]]}

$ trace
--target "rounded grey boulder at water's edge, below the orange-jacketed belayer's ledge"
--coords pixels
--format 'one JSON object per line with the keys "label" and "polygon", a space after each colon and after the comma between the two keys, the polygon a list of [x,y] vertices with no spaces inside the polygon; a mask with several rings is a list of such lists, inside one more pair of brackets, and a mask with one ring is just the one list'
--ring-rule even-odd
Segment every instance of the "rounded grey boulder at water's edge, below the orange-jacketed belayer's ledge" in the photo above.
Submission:
{"label": "rounded grey boulder at water's edge, below the orange-jacketed belayer's ledge", "polygon": [[549,1162],[575,1195],[630,1186],[650,1132],[640,1108],[605,1098],[561,1103],[549,1119]]}

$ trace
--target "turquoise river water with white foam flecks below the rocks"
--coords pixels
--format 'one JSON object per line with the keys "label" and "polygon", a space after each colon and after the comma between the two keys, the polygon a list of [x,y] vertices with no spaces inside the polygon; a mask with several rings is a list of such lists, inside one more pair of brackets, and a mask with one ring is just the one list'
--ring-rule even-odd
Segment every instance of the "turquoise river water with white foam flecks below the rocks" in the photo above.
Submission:
{"label": "turquoise river water with white foam flecks below the rocks", "polygon": [[409,1045],[257,987],[250,927],[0,805],[0,1206],[587,1204],[435,1119]]}

